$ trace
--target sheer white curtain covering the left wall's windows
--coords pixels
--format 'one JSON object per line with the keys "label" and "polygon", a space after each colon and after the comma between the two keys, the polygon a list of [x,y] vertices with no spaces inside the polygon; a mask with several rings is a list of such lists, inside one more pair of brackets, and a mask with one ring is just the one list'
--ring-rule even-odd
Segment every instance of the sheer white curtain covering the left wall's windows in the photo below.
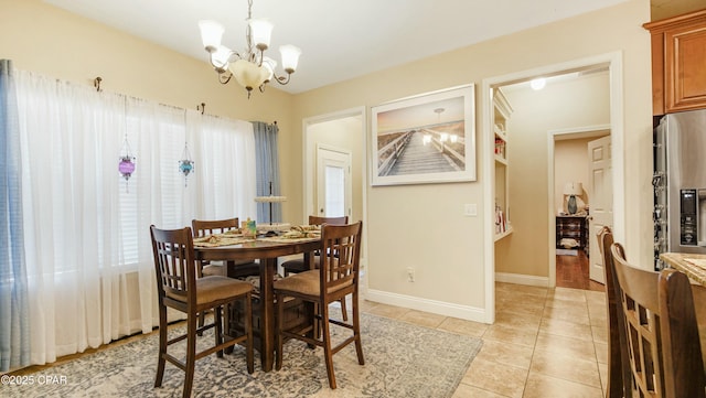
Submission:
{"label": "sheer white curtain covering the left wall's windows", "polygon": [[[31,362],[150,332],[149,225],[254,216],[252,127],[28,72],[18,73],[18,105]],[[126,133],[137,158],[127,186],[117,171]],[[188,186],[178,168],[185,142],[195,161]]]}

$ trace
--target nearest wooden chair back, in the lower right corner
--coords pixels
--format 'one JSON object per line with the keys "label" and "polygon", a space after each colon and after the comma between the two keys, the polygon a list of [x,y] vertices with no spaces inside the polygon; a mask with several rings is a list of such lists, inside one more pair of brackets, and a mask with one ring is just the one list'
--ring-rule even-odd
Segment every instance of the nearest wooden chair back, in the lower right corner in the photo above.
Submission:
{"label": "nearest wooden chair back, in the lower right corner", "polygon": [[688,278],[674,269],[635,268],[625,260],[620,244],[611,245],[611,252],[638,395],[705,398],[706,376]]}

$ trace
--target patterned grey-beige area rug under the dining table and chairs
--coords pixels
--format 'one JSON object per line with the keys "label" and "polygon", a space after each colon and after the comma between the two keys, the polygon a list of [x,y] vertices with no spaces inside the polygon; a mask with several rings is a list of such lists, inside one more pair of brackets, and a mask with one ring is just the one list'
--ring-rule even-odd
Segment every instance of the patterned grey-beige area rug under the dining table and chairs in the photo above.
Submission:
{"label": "patterned grey-beige area rug under the dining table and chairs", "polygon": [[[361,329],[365,365],[357,364],[353,345],[335,354],[335,390],[329,388],[323,349],[289,341],[279,372],[263,372],[256,352],[255,373],[249,375],[242,347],[223,358],[214,354],[197,361],[192,396],[451,397],[482,344],[479,338],[371,314],[361,314]],[[345,334],[343,330],[334,331],[336,337]],[[213,335],[204,333],[200,342],[210,344]],[[152,387],[157,346],[158,336],[153,334],[30,375],[34,376],[32,385],[0,386],[0,395],[181,397],[184,373],[169,363],[162,387]],[[50,377],[57,384],[49,384]]]}

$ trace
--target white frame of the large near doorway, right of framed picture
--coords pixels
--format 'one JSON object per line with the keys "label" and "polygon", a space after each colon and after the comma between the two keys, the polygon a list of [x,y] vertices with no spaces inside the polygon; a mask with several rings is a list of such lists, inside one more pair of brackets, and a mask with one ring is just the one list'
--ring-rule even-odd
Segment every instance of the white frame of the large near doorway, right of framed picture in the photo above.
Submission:
{"label": "white frame of the large near doorway, right of framed picture", "polygon": [[[623,106],[623,65],[622,51],[614,51],[587,58],[568,61],[534,69],[516,72],[507,75],[483,79],[481,84],[481,105],[483,146],[481,148],[483,161],[482,178],[488,181],[483,197],[483,215],[485,216],[484,248],[483,248],[483,290],[485,322],[495,321],[495,228],[493,224],[494,208],[493,196],[495,192],[495,173],[493,168],[493,109],[491,89],[513,83],[531,80],[532,78],[548,75],[559,75],[570,72],[590,69],[598,66],[607,66],[610,79],[610,131],[612,137],[613,160],[613,236],[616,240],[624,241],[625,237],[625,187],[624,187],[624,106]],[[616,217],[616,214],[620,216]],[[547,232],[548,235],[555,232]],[[556,239],[556,238],[555,238]],[[547,263],[548,267],[548,263]],[[550,272],[552,270],[547,270]],[[556,272],[556,269],[555,269]],[[556,279],[556,275],[555,275]],[[547,278],[548,280],[548,278]],[[548,284],[548,282],[547,282]]]}

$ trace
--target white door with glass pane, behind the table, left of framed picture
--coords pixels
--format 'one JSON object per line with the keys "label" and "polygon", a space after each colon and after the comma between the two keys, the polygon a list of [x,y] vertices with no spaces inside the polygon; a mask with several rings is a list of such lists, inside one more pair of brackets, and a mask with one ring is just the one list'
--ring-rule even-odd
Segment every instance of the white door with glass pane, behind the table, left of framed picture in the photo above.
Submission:
{"label": "white door with glass pane, behind the table, left of framed picture", "polygon": [[317,211],[321,217],[351,214],[351,152],[317,146]]}

